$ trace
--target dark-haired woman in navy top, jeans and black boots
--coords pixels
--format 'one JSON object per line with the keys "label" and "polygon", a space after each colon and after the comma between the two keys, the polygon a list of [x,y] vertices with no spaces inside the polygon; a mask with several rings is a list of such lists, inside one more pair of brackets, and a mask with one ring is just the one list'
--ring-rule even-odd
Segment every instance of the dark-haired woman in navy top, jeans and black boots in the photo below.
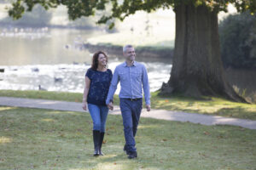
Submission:
{"label": "dark-haired woman in navy top, jeans and black boots", "polygon": [[90,69],[85,74],[83,109],[88,109],[93,122],[94,156],[103,156],[102,142],[105,134],[105,124],[108,116],[106,99],[112,71],[107,69],[108,56],[102,51],[93,55]]}

